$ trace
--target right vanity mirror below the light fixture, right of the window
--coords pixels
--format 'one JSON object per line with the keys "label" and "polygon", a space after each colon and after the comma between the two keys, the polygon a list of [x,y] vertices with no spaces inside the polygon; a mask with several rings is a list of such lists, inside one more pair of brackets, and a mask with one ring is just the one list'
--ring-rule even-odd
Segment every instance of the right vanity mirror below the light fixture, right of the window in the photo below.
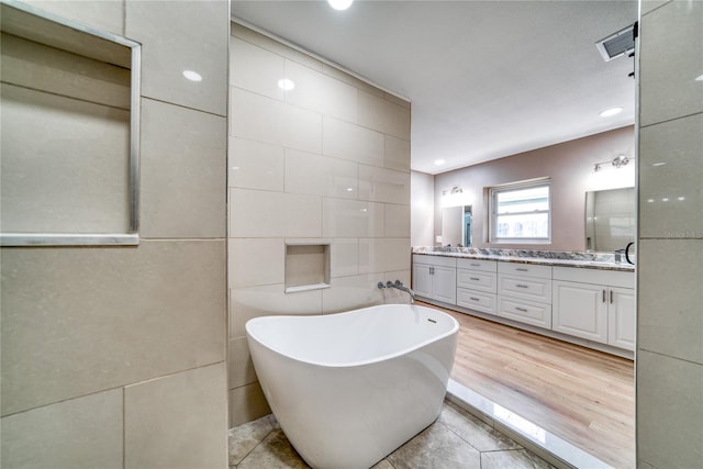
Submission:
{"label": "right vanity mirror below the light fixture, right of the window", "polygon": [[585,249],[613,252],[635,241],[635,188],[585,193]]}

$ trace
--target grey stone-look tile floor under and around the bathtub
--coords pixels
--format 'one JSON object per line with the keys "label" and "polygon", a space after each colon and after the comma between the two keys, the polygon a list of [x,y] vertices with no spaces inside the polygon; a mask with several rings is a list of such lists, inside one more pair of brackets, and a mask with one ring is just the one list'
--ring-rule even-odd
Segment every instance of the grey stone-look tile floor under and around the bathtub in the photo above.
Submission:
{"label": "grey stone-look tile floor under and around the bathtub", "polygon": [[[230,429],[231,469],[308,468],[272,415]],[[535,454],[445,401],[439,418],[372,469],[554,468]]]}

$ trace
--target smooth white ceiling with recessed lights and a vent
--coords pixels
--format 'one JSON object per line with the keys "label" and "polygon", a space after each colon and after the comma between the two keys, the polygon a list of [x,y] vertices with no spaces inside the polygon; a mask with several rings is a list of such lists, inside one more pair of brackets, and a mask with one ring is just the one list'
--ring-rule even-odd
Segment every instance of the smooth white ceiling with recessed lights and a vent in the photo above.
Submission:
{"label": "smooth white ceiling with recessed lights and a vent", "polygon": [[[412,101],[414,170],[438,174],[635,120],[634,60],[595,42],[636,0],[232,0],[232,15]],[[622,107],[613,118],[604,109]],[[442,158],[443,166],[433,161]]]}

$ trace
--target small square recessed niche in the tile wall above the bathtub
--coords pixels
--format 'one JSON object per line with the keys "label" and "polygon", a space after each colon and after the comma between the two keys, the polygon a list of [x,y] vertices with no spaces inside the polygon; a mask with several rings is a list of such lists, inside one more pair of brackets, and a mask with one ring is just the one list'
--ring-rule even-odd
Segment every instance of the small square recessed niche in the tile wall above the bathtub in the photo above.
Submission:
{"label": "small square recessed niche in the tile wall above the bathtub", "polygon": [[330,287],[328,244],[286,245],[286,293]]}

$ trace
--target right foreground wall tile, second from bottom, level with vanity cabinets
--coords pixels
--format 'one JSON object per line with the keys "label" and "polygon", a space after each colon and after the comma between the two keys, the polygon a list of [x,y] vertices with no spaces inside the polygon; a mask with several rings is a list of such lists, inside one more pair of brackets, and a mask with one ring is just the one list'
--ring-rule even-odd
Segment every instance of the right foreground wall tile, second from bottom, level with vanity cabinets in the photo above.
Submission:
{"label": "right foreground wall tile, second from bottom, level with vanity cabinets", "polygon": [[703,364],[703,239],[640,239],[637,257],[637,346]]}

